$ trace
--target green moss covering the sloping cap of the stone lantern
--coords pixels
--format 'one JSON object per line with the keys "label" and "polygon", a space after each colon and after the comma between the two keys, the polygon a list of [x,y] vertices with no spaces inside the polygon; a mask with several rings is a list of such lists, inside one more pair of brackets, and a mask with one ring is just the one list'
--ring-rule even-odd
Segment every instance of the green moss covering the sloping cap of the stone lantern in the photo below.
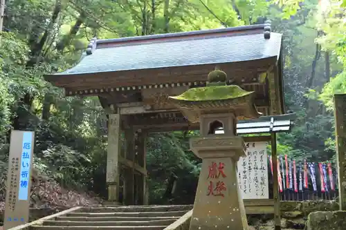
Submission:
{"label": "green moss covering the sloping cap of the stone lantern", "polygon": [[188,102],[203,102],[235,99],[237,97],[244,97],[251,95],[253,92],[243,90],[239,86],[206,86],[201,88],[190,88],[185,93],[170,97],[172,99]]}

